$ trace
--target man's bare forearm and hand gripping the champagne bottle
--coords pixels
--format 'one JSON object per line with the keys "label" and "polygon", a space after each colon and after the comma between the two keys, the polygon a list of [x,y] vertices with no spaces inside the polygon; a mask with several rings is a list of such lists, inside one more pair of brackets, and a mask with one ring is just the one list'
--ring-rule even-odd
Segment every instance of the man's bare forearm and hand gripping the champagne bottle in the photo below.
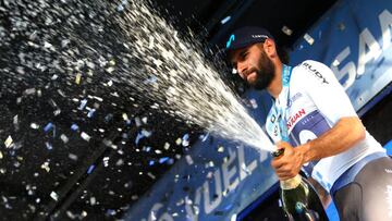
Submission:
{"label": "man's bare forearm and hand gripping the champagne bottle", "polygon": [[342,118],[331,130],[296,148],[285,142],[275,144],[284,148],[284,155],[272,159],[271,165],[284,181],[298,174],[304,163],[343,152],[364,138],[365,128],[357,116]]}

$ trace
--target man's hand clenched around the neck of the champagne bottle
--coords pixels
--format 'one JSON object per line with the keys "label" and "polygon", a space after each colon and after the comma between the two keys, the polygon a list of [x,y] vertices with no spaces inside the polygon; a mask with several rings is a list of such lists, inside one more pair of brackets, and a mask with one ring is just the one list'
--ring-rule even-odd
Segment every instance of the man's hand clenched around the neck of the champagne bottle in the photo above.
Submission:
{"label": "man's hand clenched around the neck of the champagne bottle", "polygon": [[271,167],[281,181],[294,177],[299,173],[302,165],[305,163],[303,152],[301,152],[299,148],[293,148],[285,142],[279,142],[275,145],[278,149],[284,148],[284,154],[281,157],[272,159]]}

